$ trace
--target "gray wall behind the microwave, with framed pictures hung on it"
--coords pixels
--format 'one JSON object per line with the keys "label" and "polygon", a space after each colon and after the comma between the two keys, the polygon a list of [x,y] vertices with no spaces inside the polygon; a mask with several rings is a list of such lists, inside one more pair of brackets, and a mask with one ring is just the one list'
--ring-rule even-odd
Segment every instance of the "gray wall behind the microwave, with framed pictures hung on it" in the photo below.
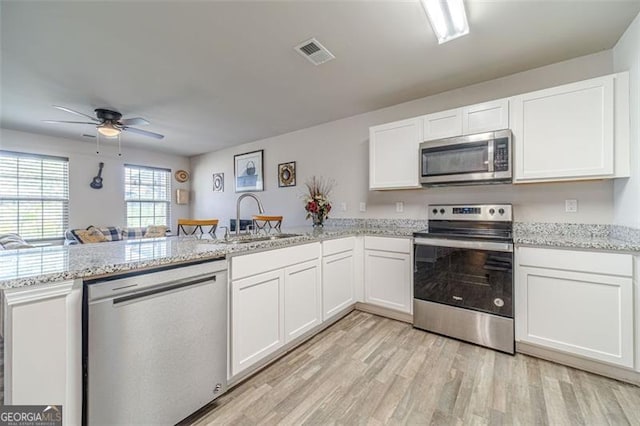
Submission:
{"label": "gray wall behind the microwave, with framed pictures hung on it", "polygon": [[[515,216],[519,221],[611,223],[612,181],[369,191],[368,137],[369,126],[372,125],[612,72],[613,54],[609,50],[192,157],[192,215],[195,218],[217,217],[224,222],[235,217],[235,201],[239,194],[234,192],[233,156],[264,149],[265,191],[259,196],[268,212],[285,216],[287,225],[309,223],[304,219],[300,196],[304,193],[304,181],[312,175],[323,175],[337,181],[331,197],[333,217],[424,219],[428,203],[507,202],[515,205]],[[274,102],[277,104],[277,100]],[[287,161],[297,162],[298,186],[278,188],[277,165]],[[223,193],[212,192],[212,173],[217,172],[225,174]],[[578,199],[578,213],[564,212],[565,199]],[[404,203],[403,213],[396,213],[395,203],[399,201]],[[367,204],[364,213],[359,211],[360,202]],[[346,203],[346,211],[340,210],[342,203]],[[250,217],[255,212],[250,204],[247,201],[243,217]]]}

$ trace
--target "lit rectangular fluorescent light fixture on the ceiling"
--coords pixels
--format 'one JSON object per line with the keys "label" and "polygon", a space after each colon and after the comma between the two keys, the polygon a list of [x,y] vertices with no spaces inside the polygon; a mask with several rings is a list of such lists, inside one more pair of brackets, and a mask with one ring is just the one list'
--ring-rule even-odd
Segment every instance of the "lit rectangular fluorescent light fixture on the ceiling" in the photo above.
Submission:
{"label": "lit rectangular fluorescent light fixture on the ceiling", "polygon": [[469,23],[462,0],[420,0],[427,12],[438,43],[469,34]]}

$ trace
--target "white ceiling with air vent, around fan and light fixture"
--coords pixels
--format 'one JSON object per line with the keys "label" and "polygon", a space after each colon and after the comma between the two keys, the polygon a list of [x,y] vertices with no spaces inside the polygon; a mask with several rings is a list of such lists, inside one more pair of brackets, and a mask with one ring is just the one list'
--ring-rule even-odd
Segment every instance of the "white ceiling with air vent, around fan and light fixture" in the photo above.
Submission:
{"label": "white ceiling with air vent, around fan and light fixture", "polygon": [[[412,1],[6,1],[0,125],[91,141],[45,119],[113,108],[194,155],[613,47],[632,1],[467,1],[471,33],[438,45]],[[293,46],[316,37],[336,59]]]}

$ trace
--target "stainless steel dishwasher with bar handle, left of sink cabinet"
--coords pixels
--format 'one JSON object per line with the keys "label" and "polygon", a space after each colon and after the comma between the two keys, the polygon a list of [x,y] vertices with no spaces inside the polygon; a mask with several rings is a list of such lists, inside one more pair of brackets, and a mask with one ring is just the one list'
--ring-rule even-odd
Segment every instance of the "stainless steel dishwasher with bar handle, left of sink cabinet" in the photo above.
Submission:
{"label": "stainless steel dishwasher with bar handle, left of sink cabinet", "polygon": [[175,424],[226,390],[226,262],[85,282],[83,422]]}

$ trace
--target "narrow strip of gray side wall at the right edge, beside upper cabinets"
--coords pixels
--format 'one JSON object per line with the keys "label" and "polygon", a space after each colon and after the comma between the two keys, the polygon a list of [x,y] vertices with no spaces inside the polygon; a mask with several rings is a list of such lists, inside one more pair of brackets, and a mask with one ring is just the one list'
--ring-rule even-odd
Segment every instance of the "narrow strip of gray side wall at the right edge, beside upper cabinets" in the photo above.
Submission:
{"label": "narrow strip of gray side wall at the right edge, beside upper cabinets", "polygon": [[640,228],[640,14],[613,49],[616,71],[629,71],[631,177],[615,183],[614,223]]}

